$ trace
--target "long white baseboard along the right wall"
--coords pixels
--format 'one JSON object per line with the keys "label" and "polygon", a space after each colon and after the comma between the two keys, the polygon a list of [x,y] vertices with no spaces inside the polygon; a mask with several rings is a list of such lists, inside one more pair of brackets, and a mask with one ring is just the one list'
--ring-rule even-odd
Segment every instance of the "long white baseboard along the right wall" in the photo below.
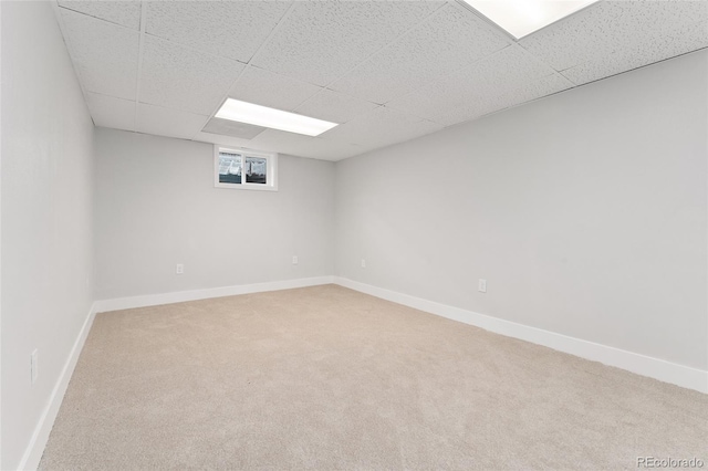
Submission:
{"label": "long white baseboard along the right wall", "polygon": [[533,344],[543,345],[559,352],[564,352],[581,358],[600,362],[605,365],[626,369],[637,375],[648,376],[665,383],[695,389],[708,394],[708,371],[691,368],[676,363],[653,358],[580,338],[569,337],[541,328],[530,327],[516,322],[452,307],[433,301],[421,300],[408,294],[372,286],[345,278],[333,276],[334,283],[372,296],[381,297],[394,303],[403,304],[416,310],[425,311],[452,321],[475,325],[486,331],[508,337],[519,338]]}

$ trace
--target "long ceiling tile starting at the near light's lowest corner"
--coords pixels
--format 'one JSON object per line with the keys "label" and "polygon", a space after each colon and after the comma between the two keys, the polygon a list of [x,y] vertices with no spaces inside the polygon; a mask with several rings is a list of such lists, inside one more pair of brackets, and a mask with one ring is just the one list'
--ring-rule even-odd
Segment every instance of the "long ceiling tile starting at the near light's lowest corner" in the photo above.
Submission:
{"label": "long ceiling tile starting at the near light's lowest corner", "polygon": [[499,96],[553,73],[553,69],[523,49],[511,45],[408,95],[393,100],[388,105],[435,121],[447,109],[475,104],[480,97],[488,100],[487,97]]}

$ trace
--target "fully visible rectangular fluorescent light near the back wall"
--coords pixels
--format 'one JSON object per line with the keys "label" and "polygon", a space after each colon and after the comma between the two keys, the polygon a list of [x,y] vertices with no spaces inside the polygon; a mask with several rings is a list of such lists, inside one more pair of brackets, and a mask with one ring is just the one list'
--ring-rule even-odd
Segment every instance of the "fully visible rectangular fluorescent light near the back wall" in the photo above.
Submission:
{"label": "fully visible rectangular fluorescent light near the back wall", "polygon": [[228,98],[226,103],[221,105],[216,117],[270,127],[272,129],[287,130],[289,133],[304,134],[306,136],[319,136],[325,130],[337,126],[336,123],[269,108],[268,106],[240,102],[233,98]]}

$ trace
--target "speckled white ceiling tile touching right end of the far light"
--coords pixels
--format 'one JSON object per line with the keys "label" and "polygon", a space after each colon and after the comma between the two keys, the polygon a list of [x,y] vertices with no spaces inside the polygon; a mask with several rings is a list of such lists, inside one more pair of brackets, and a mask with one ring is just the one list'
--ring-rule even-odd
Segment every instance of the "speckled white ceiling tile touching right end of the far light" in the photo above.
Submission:
{"label": "speckled white ceiling tile touching right end of the far light", "polygon": [[439,124],[379,106],[369,113],[355,117],[348,123],[327,130],[321,137],[371,148],[372,146],[381,147],[413,139],[441,128],[442,126]]}

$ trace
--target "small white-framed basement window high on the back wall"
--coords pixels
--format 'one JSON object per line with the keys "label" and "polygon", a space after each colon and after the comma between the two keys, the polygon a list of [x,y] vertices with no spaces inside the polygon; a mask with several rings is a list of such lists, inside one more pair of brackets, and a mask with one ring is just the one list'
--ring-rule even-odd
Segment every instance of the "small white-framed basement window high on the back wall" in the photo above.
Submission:
{"label": "small white-framed basement window high on the back wall", "polygon": [[214,146],[214,186],[278,191],[278,154]]}

